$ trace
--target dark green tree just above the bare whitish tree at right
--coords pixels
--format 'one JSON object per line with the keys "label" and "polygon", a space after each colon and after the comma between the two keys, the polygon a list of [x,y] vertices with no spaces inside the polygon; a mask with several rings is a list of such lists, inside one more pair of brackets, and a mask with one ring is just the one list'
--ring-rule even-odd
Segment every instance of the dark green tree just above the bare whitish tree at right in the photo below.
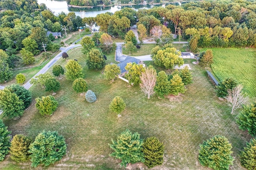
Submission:
{"label": "dark green tree just above the bare whitish tree at right", "polygon": [[234,87],[238,85],[238,82],[232,78],[228,77],[224,80],[222,80],[218,86],[216,86],[216,93],[218,97],[226,97],[228,95],[228,90],[233,90]]}

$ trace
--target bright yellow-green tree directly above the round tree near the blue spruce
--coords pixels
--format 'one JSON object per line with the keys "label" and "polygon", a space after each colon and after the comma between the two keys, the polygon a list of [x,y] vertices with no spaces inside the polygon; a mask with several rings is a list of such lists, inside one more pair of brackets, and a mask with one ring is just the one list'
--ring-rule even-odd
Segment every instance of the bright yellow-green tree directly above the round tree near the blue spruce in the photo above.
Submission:
{"label": "bright yellow-green tree directly above the round tree near the blue spruce", "polygon": [[68,61],[68,63],[65,65],[65,68],[66,68],[65,75],[68,80],[74,81],[75,79],[78,79],[84,76],[81,65],[73,59]]}

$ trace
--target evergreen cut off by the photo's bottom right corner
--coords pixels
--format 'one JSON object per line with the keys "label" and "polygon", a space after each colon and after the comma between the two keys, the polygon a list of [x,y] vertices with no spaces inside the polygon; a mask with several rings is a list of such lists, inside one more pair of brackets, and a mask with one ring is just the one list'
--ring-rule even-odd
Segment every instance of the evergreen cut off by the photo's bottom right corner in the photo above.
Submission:
{"label": "evergreen cut off by the photo's bottom right corner", "polygon": [[248,170],[256,169],[256,139],[253,138],[246,143],[246,147],[241,151],[240,161],[242,166]]}

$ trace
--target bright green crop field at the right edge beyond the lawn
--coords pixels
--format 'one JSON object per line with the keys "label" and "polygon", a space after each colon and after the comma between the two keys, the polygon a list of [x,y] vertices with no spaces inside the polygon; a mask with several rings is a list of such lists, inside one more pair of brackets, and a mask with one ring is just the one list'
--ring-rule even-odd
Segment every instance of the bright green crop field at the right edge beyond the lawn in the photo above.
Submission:
{"label": "bright green crop field at the right edge beyond the lawn", "polygon": [[[212,72],[219,80],[234,77],[250,97],[256,97],[256,49],[211,48]],[[206,49],[204,49],[206,50]],[[203,50],[201,50],[203,51]]]}

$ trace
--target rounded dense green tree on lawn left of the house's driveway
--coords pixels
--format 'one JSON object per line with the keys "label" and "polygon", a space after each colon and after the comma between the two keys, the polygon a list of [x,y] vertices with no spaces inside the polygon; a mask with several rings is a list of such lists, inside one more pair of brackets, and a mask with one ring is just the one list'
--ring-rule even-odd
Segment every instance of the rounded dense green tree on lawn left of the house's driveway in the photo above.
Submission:
{"label": "rounded dense green tree on lawn left of the house's driveway", "polygon": [[103,57],[103,53],[99,49],[92,49],[86,59],[86,65],[89,69],[102,69],[106,61]]}

